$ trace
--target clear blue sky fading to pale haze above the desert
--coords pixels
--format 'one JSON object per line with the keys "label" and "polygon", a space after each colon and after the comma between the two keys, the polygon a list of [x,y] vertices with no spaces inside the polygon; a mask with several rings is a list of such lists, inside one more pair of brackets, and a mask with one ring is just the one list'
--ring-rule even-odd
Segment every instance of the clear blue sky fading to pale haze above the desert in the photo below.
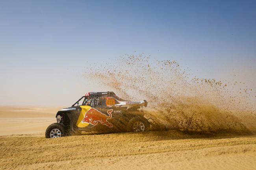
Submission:
{"label": "clear blue sky fading to pale haze above the desert", "polygon": [[86,65],[134,51],[201,78],[234,72],[255,87],[255,9],[235,0],[0,1],[0,105],[66,105],[57,96],[87,90]]}

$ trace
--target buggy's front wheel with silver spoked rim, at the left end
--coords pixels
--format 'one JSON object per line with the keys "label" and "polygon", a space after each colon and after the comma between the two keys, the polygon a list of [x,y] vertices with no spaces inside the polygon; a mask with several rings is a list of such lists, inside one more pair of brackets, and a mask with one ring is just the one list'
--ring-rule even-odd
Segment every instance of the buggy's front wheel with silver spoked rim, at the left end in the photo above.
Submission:
{"label": "buggy's front wheel with silver spoked rim, at the left end", "polygon": [[55,138],[67,136],[65,126],[62,123],[53,123],[45,131],[45,138]]}

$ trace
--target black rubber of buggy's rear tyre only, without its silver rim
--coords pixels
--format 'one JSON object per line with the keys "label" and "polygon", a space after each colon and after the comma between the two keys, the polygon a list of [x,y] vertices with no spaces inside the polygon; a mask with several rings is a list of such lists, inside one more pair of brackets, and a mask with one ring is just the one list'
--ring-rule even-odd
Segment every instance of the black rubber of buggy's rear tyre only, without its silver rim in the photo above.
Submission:
{"label": "black rubber of buggy's rear tyre only, without its silver rim", "polygon": [[[134,125],[136,126],[138,122],[141,122],[143,124],[144,130],[136,131],[134,129]],[[134,118],[130,119],[127,127],[128,132],[143,132],[143,131],[148,131],[149,129],[150,129],[150,124],[148,123],[148,120],[141,116],[135,116]]]}

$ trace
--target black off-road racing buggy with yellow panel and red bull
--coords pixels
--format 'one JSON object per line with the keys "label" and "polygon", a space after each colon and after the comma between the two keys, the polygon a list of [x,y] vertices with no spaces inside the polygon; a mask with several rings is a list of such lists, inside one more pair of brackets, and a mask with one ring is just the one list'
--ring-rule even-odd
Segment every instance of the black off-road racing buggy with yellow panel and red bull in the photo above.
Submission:
{"label": "black off-road racing buggy with yellow panel and red bull", "polygon": [[89,92],[72,107],[57,112],[57,123],[50,125],[46,138],[79,135],[85,132],[140,132],[150,123],[141,108],[147,101],[126,101],[114,92]]}

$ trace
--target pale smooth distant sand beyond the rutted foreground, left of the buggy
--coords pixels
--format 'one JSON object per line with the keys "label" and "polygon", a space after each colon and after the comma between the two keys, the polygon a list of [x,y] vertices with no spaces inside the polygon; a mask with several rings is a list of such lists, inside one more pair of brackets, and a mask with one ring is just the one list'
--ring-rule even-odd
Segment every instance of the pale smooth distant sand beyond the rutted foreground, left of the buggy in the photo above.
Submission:
{"label": "pale smooth distant sand beyond the rutted foreground, left of the buggy", "polygon": [[38,134],[56,122],[63,107],[0,107],[0,135]]}

